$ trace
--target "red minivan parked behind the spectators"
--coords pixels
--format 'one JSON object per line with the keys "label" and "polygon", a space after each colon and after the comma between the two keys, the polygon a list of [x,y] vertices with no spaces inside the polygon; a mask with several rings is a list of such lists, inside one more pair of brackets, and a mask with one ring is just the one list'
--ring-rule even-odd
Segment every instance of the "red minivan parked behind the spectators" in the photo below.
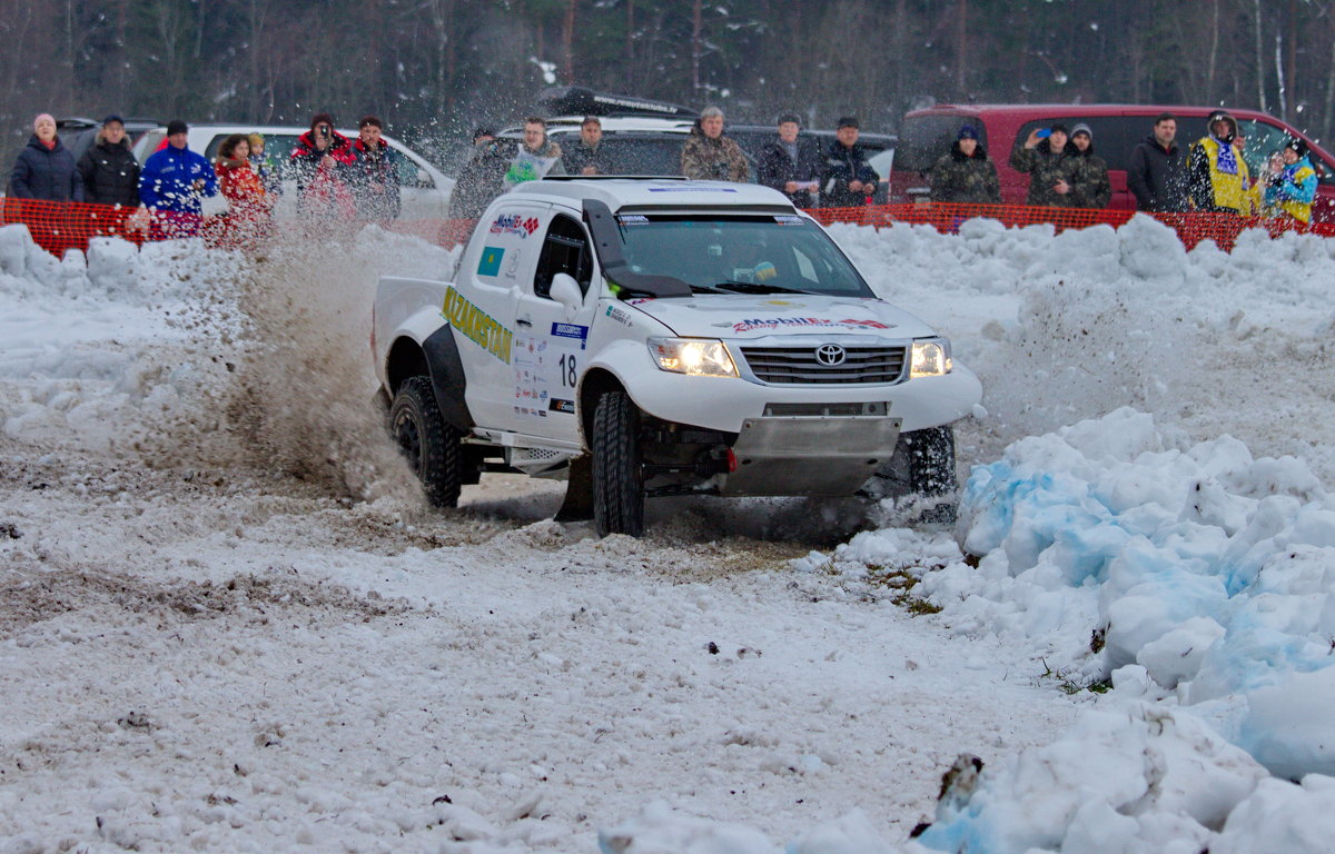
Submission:
{"label": "red minivan parked behind the spectators", "polygon": [[[979,129],[980,141],[987,145],[988,157],[996,163],[1001,179],[1001,200],[1024,204],[1029,191],[1029,176],[1011,168],[1011,149],[1016,140],[1025,140],[1033,128],[1055,121],[1068,128],[1085,123],[1093,131],[1093,149],[1108,161],[1108,180],[1112,184],[1113,209],[1135,209],[1136,197],[1127,189],[1127,163],[1131,152],[1153,131],[1155,119],[1171,112],[1177,116],[1179,145],[1189,147],[1206,136],[1206,119],[1219,107],[1141,107],[1133,104],[937,104],[916,109],[904,116],[900,140],[894,151],[894,169],[890,173],[889,201],[926,201],[930,193],[932,167],[949,151],[961,125]],[[1243,137],[1243,159],[1252,175],[1264,165],[1271,152],[1283,148],[1284,139],[1294,136],[1311,149],[1312,168],[1316,169],[1316,201],[1314,222],[1335,222],[1335,157],[1306,133],[1284,124],[1275,116],[1255,109],[1228,109],[1238,120]]]}

